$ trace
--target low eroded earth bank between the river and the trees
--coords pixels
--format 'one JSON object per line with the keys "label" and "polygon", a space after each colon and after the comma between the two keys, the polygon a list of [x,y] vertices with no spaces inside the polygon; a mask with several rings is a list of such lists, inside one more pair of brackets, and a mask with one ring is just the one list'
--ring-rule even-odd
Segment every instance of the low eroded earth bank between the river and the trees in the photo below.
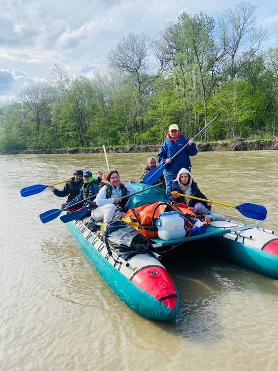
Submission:
{"label": "low eroded earth bank between the river and the trees", "polygon": [[[278,150],[278,138],[269,140],[236,140],[234,142],[208,142],[197,143],[200,152],[212,151],[259,151],[259,150]],[[129,152],[158,152],[161,145],[148,146],[118,146],[106,148],[109,153],[129,153]],[[71,149],[57,149],[57,150],[24,150],[24,151],[10,151],[1,153],[5,155],[20,155],[20,154],[62,154],[62,153],[102,153],[102,147],[96,148],[71,148]]]}

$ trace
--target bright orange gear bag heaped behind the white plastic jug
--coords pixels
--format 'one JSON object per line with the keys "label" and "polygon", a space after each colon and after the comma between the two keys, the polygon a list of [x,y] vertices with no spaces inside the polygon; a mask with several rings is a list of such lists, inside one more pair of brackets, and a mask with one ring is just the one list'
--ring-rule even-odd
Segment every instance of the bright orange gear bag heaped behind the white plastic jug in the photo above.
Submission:
{"label": "bright orange gear bag heaped behind the white plastic jug", "polygon": [[[157,238],[157,226],[156,219],[160,213],[166,211],[178,211],[184,217],[193,217],[195,219],[200,219],[191,207],[186,204],[176,204],[172,205],[165,202],[155,202],[154,204],[146,204],[143,206],[135,207],[129,209],[127,213],[122,218],[122,221],[131,224],[135,229],[138,230],[144,237],[148,239]],[[206,220],[208,221],[208,220]],[[194,224],[190,221],[186,222],[187,227],[192,228]]]}

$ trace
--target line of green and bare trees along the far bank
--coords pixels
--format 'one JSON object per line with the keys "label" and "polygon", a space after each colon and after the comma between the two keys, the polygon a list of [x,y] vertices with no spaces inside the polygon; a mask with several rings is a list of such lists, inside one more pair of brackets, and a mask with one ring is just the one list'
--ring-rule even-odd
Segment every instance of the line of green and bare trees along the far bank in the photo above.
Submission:
{"label": "line of green and bare trees along the far bank", "polygon": [[177,123],[202,141],[277,135],[278,48],[246,2],[213,17],[182,12],[151,39],[129,33],[92,79],[57,64],[0,108],[0,151],[152,145]]}

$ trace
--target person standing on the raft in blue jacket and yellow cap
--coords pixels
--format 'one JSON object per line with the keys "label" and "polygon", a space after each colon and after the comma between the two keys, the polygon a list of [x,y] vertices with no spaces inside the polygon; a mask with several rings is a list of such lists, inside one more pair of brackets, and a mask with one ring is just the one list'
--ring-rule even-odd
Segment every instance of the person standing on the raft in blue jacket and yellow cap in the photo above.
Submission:
{"label": "person standing on the raft in blue jacket and yellow cap", "polygon": [[[172,161],[170,160],[184,145],[189,143],[189,145],[184,148]],[[178,126],[172,124],[169,126],[169,132],[167,134],[166,141],[163,143],[162,147],[158,153],[158,161],[165,162],[167,166],[165,167],[165,176],[167,184],[177,176],[178,171],[185,167],[190,171],[191,161],[189,156],[197,155],[198,150],[193,139],[185,138],[180,134]]]}

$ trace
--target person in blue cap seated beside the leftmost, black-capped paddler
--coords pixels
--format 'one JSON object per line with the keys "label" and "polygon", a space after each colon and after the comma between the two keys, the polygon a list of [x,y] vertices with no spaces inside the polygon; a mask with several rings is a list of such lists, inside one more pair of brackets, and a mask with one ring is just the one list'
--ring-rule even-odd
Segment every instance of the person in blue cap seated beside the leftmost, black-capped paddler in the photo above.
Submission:
{"label": "person in blue cap seated beside the leftmost, black-capped paddler", "polygon": [[[79,194],[71,200],[66,209],[73,205],[74,203],[84,200],[88,197],[91,197],[93,195],[96,195],[99,193],[99,184],[102,180],[102,174],[103,172],[99,172],[99,176],[92,175],[90,171],[84,171],[83,173],[83,186],[80,189]],[[90,209],[94,209],[97,207],[96,203],[94,202],[94,199],[89,199],[84,201],[84,203],[80,203],[74,207],[74,209],[78,210],[79,208],[87,207]],[[70,210],[73,211],[73,210]]]}

